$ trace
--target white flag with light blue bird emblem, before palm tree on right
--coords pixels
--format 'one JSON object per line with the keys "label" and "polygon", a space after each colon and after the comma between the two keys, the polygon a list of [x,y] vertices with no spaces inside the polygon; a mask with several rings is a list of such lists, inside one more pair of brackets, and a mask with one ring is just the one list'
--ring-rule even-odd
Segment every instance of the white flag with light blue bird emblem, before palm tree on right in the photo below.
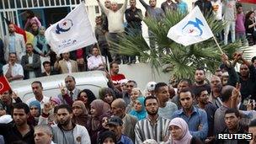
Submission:
{"label": "white flag with light blue bird emblem, before palm tree on right", "polygon": [[196,6],[184,19],[169,29],[167,36],[187,46],[210,39],[213,34],[200,8]]}

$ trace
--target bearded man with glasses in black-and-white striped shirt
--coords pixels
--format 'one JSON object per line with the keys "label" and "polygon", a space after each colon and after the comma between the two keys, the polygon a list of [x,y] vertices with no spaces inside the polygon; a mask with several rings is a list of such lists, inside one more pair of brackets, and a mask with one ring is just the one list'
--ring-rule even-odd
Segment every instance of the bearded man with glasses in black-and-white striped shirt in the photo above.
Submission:
{"label": "bearded man with glasses in black-and-white striped shirt", "polygon": [[157,98],[148,96],[144,100],[147,110],[147,118],[137,122],[135,126],[135,143],[141,144],[147,139],[154,139],[157,142],[164,141],[168,137],[168,125],[170,120],[162,118],[157,114]]}

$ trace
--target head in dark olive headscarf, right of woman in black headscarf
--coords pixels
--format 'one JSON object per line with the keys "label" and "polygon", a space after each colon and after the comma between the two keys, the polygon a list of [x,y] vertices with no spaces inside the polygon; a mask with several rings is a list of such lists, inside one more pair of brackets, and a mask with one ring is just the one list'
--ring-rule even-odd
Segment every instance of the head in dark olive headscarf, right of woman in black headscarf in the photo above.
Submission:
{"label": "head in dark olive headscarf, right of woman in black headscarf", "polygon": [[111,105],[115,100],[115,92],[111,88],[101,88],[99,90],[99,99]]}

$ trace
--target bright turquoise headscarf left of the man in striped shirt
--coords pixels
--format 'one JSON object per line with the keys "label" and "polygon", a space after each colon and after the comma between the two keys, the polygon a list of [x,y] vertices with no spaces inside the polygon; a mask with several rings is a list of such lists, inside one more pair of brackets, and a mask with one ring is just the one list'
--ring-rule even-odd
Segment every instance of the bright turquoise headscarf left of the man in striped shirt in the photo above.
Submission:
{"label": "bright turquoise headscarf left of the man in striped shirt", "polygon": [[142,105],[141,111],[136,111],[135,109],[132,109],[129,114],[136,116],[138,120],[143,120],[147,117],[147,111],[144,105],[145,98],[143,96],[140,96],[136,100],[138,100]]}

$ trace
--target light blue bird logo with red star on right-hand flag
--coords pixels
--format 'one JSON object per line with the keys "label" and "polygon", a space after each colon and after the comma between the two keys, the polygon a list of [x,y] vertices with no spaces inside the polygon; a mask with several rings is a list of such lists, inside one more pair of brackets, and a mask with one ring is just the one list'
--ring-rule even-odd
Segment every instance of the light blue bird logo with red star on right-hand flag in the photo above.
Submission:
{"label": "light blue bird logo with red star on right-hand flag", "polygon": [[202,21],[198,18],[195,18],[195,21],[189,20],[182,29],[183,33],[193,36],[203,35],[203,29],[200,28],[201,25],[204,26]]}

